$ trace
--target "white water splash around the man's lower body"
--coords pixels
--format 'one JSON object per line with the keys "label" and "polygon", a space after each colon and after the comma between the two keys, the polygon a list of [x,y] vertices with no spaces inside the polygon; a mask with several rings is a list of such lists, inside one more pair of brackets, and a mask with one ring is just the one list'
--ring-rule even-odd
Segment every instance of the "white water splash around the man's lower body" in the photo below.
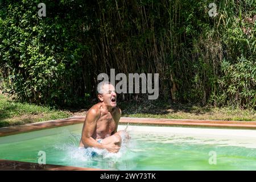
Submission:
{"label": "white water splash around the man's lower body", "polygon": [[[129,125],[127,125],[128,127]],[[126,127],[126,129],[127,129]],[[122,144],[117,153],[108,152],[106,149],[80,148],[81,134],[71,133],[64,130],[56,137],[58,143],[55,149],[62,153],[61,161],[68,163],[69,166],[93,167],[101,169],[133,169],[137,163],[133,162],[133,157],[137,152],[133,151],[136,143],[127,139],[125,134],[121,134]],[[63,142],[63,143],[60,143]]]}

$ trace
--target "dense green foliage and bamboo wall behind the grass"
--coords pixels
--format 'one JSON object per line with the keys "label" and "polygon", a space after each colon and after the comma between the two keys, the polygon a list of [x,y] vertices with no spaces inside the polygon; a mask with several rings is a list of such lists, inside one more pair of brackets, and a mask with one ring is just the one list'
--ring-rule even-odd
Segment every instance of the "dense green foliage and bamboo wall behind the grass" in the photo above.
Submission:
{"label": "dense green foliage and bamboo wall behind the grass", "polygon": [[2,89],[19,100],[81,103],[115,68],[159,73],[165,99],[255,108],[255,0],[47,0],[46,17],[38,3],[1,2]]}

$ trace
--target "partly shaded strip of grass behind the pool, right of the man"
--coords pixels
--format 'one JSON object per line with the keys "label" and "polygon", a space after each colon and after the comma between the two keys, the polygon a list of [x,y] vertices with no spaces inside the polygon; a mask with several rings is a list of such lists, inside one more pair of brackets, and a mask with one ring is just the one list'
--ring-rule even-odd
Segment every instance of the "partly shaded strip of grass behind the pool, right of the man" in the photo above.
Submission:
{"label": "partly shaded strip of grass behind the pool, right of the man", "polygon": [[182,105],[148,100],[129,103],[123,102],[120,107],[123,117],[256,121],[256,110],[253,109]]}

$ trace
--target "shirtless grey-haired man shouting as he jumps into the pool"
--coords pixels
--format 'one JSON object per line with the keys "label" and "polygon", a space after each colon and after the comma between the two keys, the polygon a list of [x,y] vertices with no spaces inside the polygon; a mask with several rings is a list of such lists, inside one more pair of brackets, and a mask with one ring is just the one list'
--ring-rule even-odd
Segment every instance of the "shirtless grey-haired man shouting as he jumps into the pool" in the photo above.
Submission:
{"label": "shirtless grey-haired man shouting as he jumps into the pool", "polygon": [[95,147],[109,152],[118,152],[122,137],[129,138],[126,131],[118,131],[121,109],[117,107],[117,94],[110,82],[100,82],[97,86],[100,102],[92,106],[86,114],[79,147]]}

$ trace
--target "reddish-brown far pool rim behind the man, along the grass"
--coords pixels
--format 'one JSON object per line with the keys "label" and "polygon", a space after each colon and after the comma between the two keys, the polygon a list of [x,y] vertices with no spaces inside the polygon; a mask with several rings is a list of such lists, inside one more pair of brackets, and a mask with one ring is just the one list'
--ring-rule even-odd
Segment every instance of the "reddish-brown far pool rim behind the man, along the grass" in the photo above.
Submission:
{"label": "reddish-brown far pool rim behind the man, along the grass", "polygon": [[[30,131],[51,129],[54,127],[76,125],[83,123],[85,116],[57,119],[46,122],[30,123],[26,125],[1,127],[0,137],[26,133]],[[199,120],[199,119],[155,119],[155,118],[126,118],[122,117],[119,124],[141,126],[175,126],[175,127],[207,127],[225,129],[256,129],[256,121],[221,121],[221,120]]]}

